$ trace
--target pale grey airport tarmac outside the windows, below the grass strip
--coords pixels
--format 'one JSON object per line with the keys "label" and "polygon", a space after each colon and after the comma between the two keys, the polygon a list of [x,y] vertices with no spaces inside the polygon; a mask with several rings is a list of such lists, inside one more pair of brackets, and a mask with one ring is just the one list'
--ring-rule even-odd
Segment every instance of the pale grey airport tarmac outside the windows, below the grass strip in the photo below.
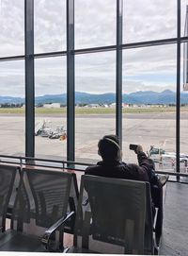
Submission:
{"label": "pale grey airport tarmac outside the windows, below the grass strip", "polygon": [[[188,154],[187,113],[180,120],[180,152]],[[36,116],[36,122],[48,120],[51,128],[64,126],[66,116]],[[24,156],[24,116],[0,116],[0,154]],[[75,158],[79,162],[97,162],[97,144],[105,134],[116,133],[115,114],[77,115],[75,119]],[[137,162],[136,155],[129,149],[130,144],[143,145],[149,151],[150,145],[160,146],[166,151],[176,152],[175,113],[124,114],[122,119],[122,150],[125,162]],[[66,160],[67,140],[35,136],[36,157]],[[167,166],[166,168],[171,167]]]}

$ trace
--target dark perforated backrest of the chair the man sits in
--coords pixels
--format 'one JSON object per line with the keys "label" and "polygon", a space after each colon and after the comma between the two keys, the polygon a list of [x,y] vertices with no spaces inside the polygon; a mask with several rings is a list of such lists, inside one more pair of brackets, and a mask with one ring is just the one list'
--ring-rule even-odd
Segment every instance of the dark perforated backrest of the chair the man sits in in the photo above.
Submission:
{"label": "dark perforated backrest of the chair the man sits in", "polygon": [[[146,196],[146,182],[84,175],[74,246],[102,253],[144,254]],[[83,203],[86,197],[88,204]]]}

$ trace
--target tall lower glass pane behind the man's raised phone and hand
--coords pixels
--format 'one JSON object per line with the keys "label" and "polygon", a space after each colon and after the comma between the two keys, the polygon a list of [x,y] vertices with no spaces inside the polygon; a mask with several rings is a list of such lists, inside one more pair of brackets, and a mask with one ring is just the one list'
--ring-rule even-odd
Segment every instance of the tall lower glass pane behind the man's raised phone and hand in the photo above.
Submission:
{"label": "tall lower glass pane behind the man's raised phone and hand", "polygon": [[123,52],[123,152],[143,145],[156,169],[174,171],[176,160],[176,45]]}

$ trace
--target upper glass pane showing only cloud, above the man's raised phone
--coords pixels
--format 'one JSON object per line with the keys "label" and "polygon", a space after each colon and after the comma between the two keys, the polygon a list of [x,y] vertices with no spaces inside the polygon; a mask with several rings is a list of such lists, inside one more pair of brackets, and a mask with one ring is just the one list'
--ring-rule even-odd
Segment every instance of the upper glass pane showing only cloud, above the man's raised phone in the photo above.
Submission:
{"label": "upper glass pane showing only cloud, above the man's raised phone", "polygon": [[177,1],[123,1],[123,42],[136,43],[177,36]]}

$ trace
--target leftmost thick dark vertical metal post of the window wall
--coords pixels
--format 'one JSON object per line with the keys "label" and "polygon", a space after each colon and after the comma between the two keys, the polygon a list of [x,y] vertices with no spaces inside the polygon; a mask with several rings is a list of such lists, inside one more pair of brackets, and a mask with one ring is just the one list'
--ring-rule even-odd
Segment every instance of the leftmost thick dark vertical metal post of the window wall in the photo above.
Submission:
{"label": "leftmost thick dark vertical metal post of the window wall", "polygon": [[25,156],[35,156],[34,0],[24,0]]}

